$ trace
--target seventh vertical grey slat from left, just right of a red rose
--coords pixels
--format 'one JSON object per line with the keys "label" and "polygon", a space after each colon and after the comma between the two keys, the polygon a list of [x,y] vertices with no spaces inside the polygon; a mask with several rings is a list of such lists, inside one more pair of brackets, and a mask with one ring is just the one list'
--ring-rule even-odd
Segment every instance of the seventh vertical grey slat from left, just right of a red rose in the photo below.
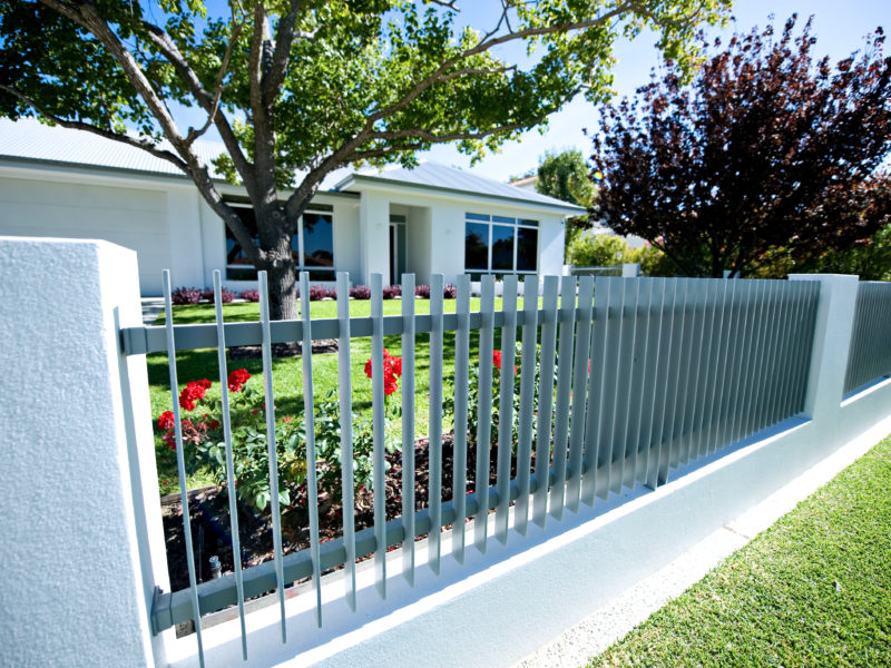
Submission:
{"label": "seventh vertical grey slat from left, just right of a red rose", "polygon": [[402,274],[402,576],[414,587],[414,274]]}

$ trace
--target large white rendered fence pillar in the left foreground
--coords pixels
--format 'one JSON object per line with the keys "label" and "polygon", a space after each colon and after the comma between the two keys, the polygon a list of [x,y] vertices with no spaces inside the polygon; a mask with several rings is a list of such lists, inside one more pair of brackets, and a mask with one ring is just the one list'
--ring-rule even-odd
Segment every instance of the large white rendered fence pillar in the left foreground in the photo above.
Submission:
{"label": "large white rendered fence pillar in the left foreground", "polygon": [[4,237],[0,256],[2,662],[164,661],[148,619],[166,558],[146,364],[118,336],[141,320],[136,253]]}

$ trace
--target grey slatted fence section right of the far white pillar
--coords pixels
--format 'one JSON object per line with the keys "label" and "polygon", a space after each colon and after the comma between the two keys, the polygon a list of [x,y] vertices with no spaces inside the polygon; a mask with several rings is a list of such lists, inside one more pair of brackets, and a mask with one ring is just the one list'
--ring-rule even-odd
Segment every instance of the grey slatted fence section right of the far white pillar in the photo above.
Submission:
{"label": "grey slatted fence section right of the far white pillar", "polygon": [[891,283],[861,282],[844,393],[891,375]]}

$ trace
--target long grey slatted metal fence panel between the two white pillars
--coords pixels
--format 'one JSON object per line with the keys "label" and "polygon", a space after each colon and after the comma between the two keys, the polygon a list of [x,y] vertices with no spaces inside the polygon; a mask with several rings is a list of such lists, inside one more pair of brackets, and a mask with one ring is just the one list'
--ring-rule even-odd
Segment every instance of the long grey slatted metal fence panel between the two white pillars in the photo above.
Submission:
{"label": "long grey slatted metal fence panel between the two white pillars", "polygon": [[[263,273],[261,273],[263,274]],[[265,287],[265,276],[261,283]],[[716,452],[756,432],[794,416],[803,410],[810,356],[813,346],[820,285],[816,282],[721,281],[678,278],[557,277],[544,278],[540,302],[527,299],[520,307],[516,296],[495,308],[491,277],[481,282],[480,311],[471,313],[468,276],[457,281],[456,313],[443,313],[442,277],[431,281],[430,314],[414,313],[415,302],[401,302],[401,315],[384,316],[381,277],[372,277],[371,315],[351,317],[345,274],[337,276],[337,317],[310,320],[309,301],[303,298],[297,321],[271,322],[265,289],[261,291],[262,317],[256,323],[224,323],[222,308],[216,324],[172,325],[167,307],[165,327],[130,327],[121,331],[127,354],[167,352],[175,383],[176,353],[196,348],[218,348],[221,384],[226,384],[226,362],[222,348],[261,345],[263,355],[266,420],[270,451],[270,481],[274,490],[274,559],[249,568],[238,568],[219,579],[175,592],[161,592],[151,610],[156,632],[174,625],[195,621],[202,615],[235,606],[242,623],[244,600],[258,595],[278,593],[284,627],[284,587],[310,579],[316,598],[317,622],[322,623],[320,576],[345,567],[345,599],[355,609],[355,560],[374,561],[378,591],[385,597],[388,549],[403,547],[402,574],[414,580],[418,568],[414,538],[431,537],[428,564],[439,571],[440,532],[453,525],[452,557],[463,561],[466,549],[484,551],[487,517],[495,510],[495,538],[517,540],[531,520],[540,527],[559,521],[564,509],[577,511],[579,503],[594,505],[623,488],[638,484],[656,488],[670,471]],[[219,283],[215,284],[217,291]],[[527,277],[523,293],[539,294],[538,277]],[[301,292],[309,294],[307,277]],[[506,277],[505,294],[517,295],[517,278]],[[414,277],[403,276],[402,294],[414,294]],[[870,295],[873,293],[870,292]],[[884,311],[891,293],[882,293]],[[879,297],[862,297],[865,301]],[[169,296],[168,296],[169,304]],[[872,302],[870,302],[872,304]],[[864,312],[870,307],[863,306]],[[858,323],[861,306],[858,302]],[[862,316],[868,318],[866,315]],[[885,315],[888,317],[888,315]],[[882,321],[885,323],[887,321]],[[879,326],[870,321],[871,327]],[[866,325],[863,325],[864,330]],[[887,330],[885,330],[887,331]],[[454,333],[454,396],[443,397],[444,334]],[[497,346],[495,333],[500,334]],[[863,334],[863,346],[872,345],[878,330]],[[470,354],[470,335],[478,338],[480,355]],[[386,520],[383,492],[388,481],[384,461],[388,422],[385,419],[384,336],[402,341],[402,515]],[[430,498],[427,508],[415,510],[415,336],[429,342],[429,424],[434,435],[429,443]],[[278,524],[277,472],[272,384],[271,346],[303,343],[303,403],[305,415],[314,415],[311,341],[339,340],[340,409],[352,412],[350,403],[351,340],[371,338],[372,379],[372,492],[373,525],[355,530],[353,517],[343,513],[343,534],[320,543],[319,508],[315,493],[316,462],[313,420],[306,420],[306,484],[309,494],[306,533],[311,546],[282,553]],[[887,348],[885,345],[885,356]],[[872,348],[870,348],[872,350]],[[493,370],[492,363],[498,365]],[[849,364],[860,364],[852,355]],[[515,371],[516,365],[516,371]],[[872,371],[869,373],[873,373]],[[470,404],[469,379],[474,377],[476,403]],[[516,376],[516,377],[515,377]],[[860,377],[860,376],[858,376]],[[500,382],[495,395],[493,383]],[[174,401],[176,401],[176,386]],[[495,396],[493,396],[495,395]],[[224,387],[225,396],[225,387]],[[453,418],[444,420],[442,400],[454,402]],[[516,410],[515,410],[516,409]],[[499,420],[496,429],[496,420]],[[469,422],[477,425],[468,430]],[[451,500],[440,499],[443,477],[441,439],[454,430]],[[341,428],[343,508],[355,507],[352,453],[355,433],[351,420]],[[232,468],[232,444],[226,426],[226,463]],[[490,449],[498,448],[495,484],[490,484]],[[178,456],[182,441],[177,432]],[[468,492],[468,452],[477,454],[472,492]],[[180,466],[180,484],[185,474]],[[228,479],[229,485],[232,478]],[[508,509],[513,507],[509,532]],[[234,508],[232,505],[231,508]],[[188,504],[184,493],[184,523],[188,532]],[[551,519],[548,520],[548,517]],[[467,518],[474,530],[467,542]],[[237,524],[233,520],[233,529]],[[190,548],[189,548],[190,550]],[[237,554],[237,552],[236,552]],[[187,559],[193,560],[189,553]],[[391,562],[392,566],[392,562]],[[200,628],[196,625],[196,629]],[[247,647],[244,645],[246,656]]]}

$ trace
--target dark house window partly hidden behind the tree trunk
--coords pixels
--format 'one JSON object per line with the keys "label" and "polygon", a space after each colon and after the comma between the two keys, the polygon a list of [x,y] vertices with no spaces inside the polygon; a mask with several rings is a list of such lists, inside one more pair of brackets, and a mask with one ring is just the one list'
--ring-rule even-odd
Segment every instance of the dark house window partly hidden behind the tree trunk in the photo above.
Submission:
{"label": "dark house window partly hidden behind the tree trunk", "polygon": [[[229,203],[229,206],[258,246],[260,235],[254,209],[236,203]],[[310,210],[303,214],[291,240],[291,256],[297,272],[310,272],[310,281],[334,281],[334,216],[330,212]],[[226,227],[226,278],[256,281],[256,277],[257,271],[247,259],[235,235]]]}

